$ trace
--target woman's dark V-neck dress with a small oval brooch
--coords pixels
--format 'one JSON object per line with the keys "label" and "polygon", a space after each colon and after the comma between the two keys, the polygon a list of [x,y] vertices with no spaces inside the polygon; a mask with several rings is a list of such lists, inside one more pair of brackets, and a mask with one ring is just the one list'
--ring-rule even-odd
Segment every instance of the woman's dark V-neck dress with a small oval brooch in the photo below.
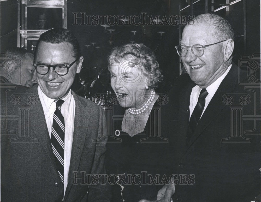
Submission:
{"label": "woman's dark V-neck dress with a small oval brooch", "polygon": [[[170,149],[168,140],[164,138],[166,135],[161,134],[161,131],[163,131],[161,127],[164,127],[164,123],[162,123],[159,114],[162,108],[159,102],[160,98],[155,102],[150,112],[144,131],[132,137],[123,132],[121,128],[125,109],[120,105],[114,106],[113,134],[109,134],[106,145],[105,168],[107,174],[131,174],[132,176],[139,174],[142,176],[146,172],[146,175],[151,174],[153,178],[155,178],[156,174],[159,174],[158,183],[162,182],[163,174],[167,176],[165,180],[168,179],[170,173],[173,172],[174,154]],[[119,136],[115,135],[116,130],[120,130]],[[128,179],[126,177],[125,182],[122,183],[131,183]],[[145,179],[144,182],[144,180],[140,180],[140,177],[136,177],[135,182],[140,182],[138,185],[133,183],[131,185],[122,185],[124,187],[122,194],[121,186],[113,185],[111,201],[118,202],[124,199],[125,202],[138,202],[144,198],[156,200],[157,192],[163,187],[165,181],[160,185],[141,185],[142,182],[149,182],[147,176]],[[111,183],[114,183],[114,180],[111,177]]]}

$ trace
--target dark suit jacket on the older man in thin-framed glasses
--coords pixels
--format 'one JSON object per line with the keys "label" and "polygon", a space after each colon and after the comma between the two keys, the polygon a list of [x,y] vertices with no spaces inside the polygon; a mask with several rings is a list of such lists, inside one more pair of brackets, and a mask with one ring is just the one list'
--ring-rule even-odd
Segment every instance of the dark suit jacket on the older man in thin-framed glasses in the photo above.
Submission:
{"label": "dark suit jacket on the older man in thin-framed glasses", "polygon": [[182,89],[177,129],[169,133],[175,150],[174,172],[192,174],[191,181],[179,181],[173,198],[253,200],[260,192],[260,84],[242,84],[239,68],[233,64],[200,118],[191,143],[186,145],[194,86],[190,81]]}

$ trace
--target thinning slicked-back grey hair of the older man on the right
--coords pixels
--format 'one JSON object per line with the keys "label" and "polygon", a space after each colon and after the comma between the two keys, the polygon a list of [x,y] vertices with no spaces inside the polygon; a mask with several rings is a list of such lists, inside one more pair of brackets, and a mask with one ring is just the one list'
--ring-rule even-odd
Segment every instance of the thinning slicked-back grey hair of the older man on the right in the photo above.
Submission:
{"label": "thinning slicked-back grey hair of the older man on the right", "polygon": [[213,14],[213,13],[205,13],[198,15],[194,18],[194,23],[206,23],[211,25],[214,29],[216,29],[215,36],[219,40],[234,40],[234,31],[227,20],[223,17]]}

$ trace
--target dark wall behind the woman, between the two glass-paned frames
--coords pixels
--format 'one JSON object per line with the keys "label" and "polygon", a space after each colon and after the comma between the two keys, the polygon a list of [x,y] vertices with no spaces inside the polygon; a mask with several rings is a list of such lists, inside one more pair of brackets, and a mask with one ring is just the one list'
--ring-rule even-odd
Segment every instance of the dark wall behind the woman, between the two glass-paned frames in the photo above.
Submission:
{"label": "dark wall behind the woman, between the two glass-paned frames", "polygon": [[[86,12],[89,15],[141,15],[141,12],[146,11],[148,14],[155,17],[155,15],[178,15],[178,1],[74,1],[68,2],[68,20],[67,27],[72,30],[76,37],[79,39],[82,52],[84,54],[85,69],[82,69],[80,76],[86,81],[92,81],[95,76],[102,69],[106,69],[108,62],[107,57],[111,49],[115,46],[120,46],[130,41],[135,43],[144,43],[150,47],[156,54],[160,68],[165,75],[165,81],[174,81],[179,76],[179,56],[176,54],[175,45],[179,44],[178,26],[111,26],[107,29],[115,29],[110,34],[104,31],[104,27],[100,24],[97,26],[89,25],[73,25],[74,15],[73,12]],[[78,21],[80,24],[81,21]],[[136,31],[135,36],[131,31]],[[157,33],[164,31],[162,36]],[[113,41],[112,45],[108,41]],[[93,46],[91,42],[96,42]],[[90,44],[90,47],[85,45]],[[95,46],[100,47],[99,49]],[[94,69],[92,67],[95,67]],[[104,81],[108,82],[108,74],[106,70],[100,74],[104,76]],[[107,79],[105,78],[107,77]],[[102,79],[100,79],[102,80]]]}

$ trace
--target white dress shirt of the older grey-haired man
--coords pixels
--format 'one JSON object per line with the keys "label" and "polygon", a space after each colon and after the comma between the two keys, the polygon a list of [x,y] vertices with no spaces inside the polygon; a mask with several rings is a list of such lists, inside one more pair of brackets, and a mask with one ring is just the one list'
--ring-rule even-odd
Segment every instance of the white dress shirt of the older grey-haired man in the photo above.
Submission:
{"label": "white dress shirt of the older grey-haired man", "polygon": [[[220,86],[221,82],[223,81],[223,79],[226,77],[226,75],[228,74],[230,68],[231,68],[232,64],[229,65],[229,67],[227,68],[226,72],[224,72],[224,74],[222,74],[216,81],[214,81],[211,85],[209,85],[208,87],[206,87],[207,92],[209,93],[205,99],[205,106],[204,109],[202,111],[201,116],[203,115],[204,111],[207,108],[207,105],[210,103],[210,100],[212,99],[212,97],[214,96],[214,94],[216,93],[218,87]],[[202,88],[200,88],[198,85],[194,86],[192,88],[191,94],[190,94],[190,100],[189,100],[189,118],[192,115],[192,112],[195,108],[195,106],[198,103],[198,97],[199,97],[199,93],[201,91]],[[200,116],[200,118],[201,118]]]}

